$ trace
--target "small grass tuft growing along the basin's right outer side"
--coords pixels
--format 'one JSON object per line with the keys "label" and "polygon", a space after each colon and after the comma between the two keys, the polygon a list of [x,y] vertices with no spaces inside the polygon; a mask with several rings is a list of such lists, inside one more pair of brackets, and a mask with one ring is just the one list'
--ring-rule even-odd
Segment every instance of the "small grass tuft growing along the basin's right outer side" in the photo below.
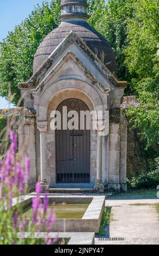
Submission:
{"label": "small grass tuft growing along the basin's right outer side", "polygon": [[106,227],[106,225],[110,224],[111,219],[112,219],[111,207],[105,207],[102,215],[101,224],[100,224],[100,230],[99,230],[99,233],[97,233],[97,235],[99,236],[105,235],[104,228]]}

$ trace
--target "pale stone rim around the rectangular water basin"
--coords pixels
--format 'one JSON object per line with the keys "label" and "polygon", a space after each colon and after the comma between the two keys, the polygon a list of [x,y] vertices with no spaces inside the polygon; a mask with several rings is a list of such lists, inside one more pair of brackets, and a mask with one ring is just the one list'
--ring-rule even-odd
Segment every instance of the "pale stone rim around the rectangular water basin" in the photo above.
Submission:
{"label": "pale stone rim around the rectangular water basin", "polygon": [[[30,205],[35,193],[30,196],[22,196],[19,200],[14,198],[13,207],[20,204],[22,208]],[[45,196],[41,194],[40,198]],[[66,202],[66,203],[90,203],[88,209],[81,219],[56,219],[52,227],[52,232],[99,232],[103,210],[105,208],[105,196],[50,196],[48,195],[50,203]]]}

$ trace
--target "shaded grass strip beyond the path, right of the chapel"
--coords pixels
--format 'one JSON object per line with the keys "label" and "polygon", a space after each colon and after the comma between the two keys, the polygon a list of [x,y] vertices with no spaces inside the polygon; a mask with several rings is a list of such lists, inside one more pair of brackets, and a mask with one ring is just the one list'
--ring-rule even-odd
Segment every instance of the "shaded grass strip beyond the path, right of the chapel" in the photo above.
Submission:
{"label": "shaded grass strip beyond the path, right of the chapel", "polygon": [[112,197],[109,197],[112,199],[141,199],[141,198],[157,198],[157,190],[133,190],[128,191],[127,193],[119,193],[114,194]]}

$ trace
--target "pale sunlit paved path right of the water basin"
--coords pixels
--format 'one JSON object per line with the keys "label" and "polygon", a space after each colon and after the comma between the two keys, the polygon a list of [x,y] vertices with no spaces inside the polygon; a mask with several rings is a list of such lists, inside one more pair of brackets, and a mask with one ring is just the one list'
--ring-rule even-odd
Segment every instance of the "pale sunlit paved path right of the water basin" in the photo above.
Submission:
{"label": "pale sunlit paved path right of the water basin", "polygon": [[106,206],[112,206],[113,214],[107,229],[109,238],[96,238],[96,245],[158,245],[159,216],[154,206],[155,203],[159,203],[159,199],[106,200]]}

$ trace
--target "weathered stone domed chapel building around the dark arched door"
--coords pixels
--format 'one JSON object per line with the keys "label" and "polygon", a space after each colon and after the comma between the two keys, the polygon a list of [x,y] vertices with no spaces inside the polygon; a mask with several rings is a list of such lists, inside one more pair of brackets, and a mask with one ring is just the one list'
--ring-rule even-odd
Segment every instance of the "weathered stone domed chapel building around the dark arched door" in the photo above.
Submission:
{"label": "weathered stone domed chapel building around the dark arched door", "polygon": [[34,116],[25,114],[20,140],[26,144],[26,137],[33,136],[32,174],[36,179],[40,176],[42,185],[47,182],[53,187],[57,180],[56,133],[51,130],[51,112],[69,98],[82,100],[90,111],[109,112],[107,126],[103,118],[102,126],[90,131],[90,184],[96,184],[97,191],[103,192],[104,185],[119,191],[126,182],[127,124],[123,125],[120,112],[126,82],[112,73],[115,58],[106,39],[85,21],[85,3],[62,2],[63,22],[41,42],[34,75],[19,84],[26,106],[33,105],[36,112]]}

